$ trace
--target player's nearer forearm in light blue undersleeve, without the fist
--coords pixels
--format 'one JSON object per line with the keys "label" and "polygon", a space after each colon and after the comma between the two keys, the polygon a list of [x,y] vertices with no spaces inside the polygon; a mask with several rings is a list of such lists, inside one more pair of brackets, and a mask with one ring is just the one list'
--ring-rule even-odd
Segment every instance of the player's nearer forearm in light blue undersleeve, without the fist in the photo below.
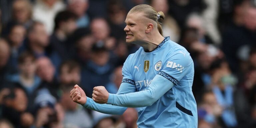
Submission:
{"label": "player's nearer forearm in light blue undersleeve, without the fist", "polygon": [[[159,82],[161,81],[161,82]],[[173,87],[173,83],[168,79],[156,75],[149,88],[144,91],[129,94],[109,94],[107,104],[123,107],[145,107],[151,106],[161,96]]]}

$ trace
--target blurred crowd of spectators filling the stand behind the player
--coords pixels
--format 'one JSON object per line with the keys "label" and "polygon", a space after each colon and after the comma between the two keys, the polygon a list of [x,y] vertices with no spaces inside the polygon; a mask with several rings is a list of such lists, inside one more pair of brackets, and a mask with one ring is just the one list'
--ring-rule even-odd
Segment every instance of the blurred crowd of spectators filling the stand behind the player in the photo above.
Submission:
{"label": "blurred crowd of spectators filling the stand behind the player", "polygon": [[198,127],[255,128],[256,0],[1,0],[0,128],[137,128],[136,108],[102,114],[69,93],[117,92],[139,4],[164,12],[163,35],[193,58]]}

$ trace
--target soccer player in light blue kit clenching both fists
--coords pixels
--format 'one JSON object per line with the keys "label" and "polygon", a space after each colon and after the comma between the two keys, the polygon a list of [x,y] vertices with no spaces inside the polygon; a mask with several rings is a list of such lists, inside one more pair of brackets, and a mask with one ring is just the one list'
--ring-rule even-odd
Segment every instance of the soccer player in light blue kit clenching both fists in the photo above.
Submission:
{"label": "soccer player in light blue kit clenching both fists", "polygon": [[196,128],[194,63],[184,47],[162,36],[163,20],[164,14],[149,5],[133,7],[125,20],[126,42],[141,47],[126,59],[117,94],[98,86],[91,99],[75,85],[70,91],[72,100],[107,114],[140,107],[139,128]]}

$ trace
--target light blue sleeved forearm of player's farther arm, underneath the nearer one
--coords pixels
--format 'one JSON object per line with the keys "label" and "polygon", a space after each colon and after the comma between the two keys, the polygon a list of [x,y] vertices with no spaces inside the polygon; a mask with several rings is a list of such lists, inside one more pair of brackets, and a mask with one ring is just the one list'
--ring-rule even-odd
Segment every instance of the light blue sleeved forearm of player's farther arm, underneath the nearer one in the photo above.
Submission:
{"label": "light blue sleeved forearm of player's farther arm, underneath the nearer one", "polygon": [[89,97],[87,97],[87,101],[83,106],[94,111],[111,115],[122,115],[127,109],[126,107],[114,106],[110,104],[98,104]]}

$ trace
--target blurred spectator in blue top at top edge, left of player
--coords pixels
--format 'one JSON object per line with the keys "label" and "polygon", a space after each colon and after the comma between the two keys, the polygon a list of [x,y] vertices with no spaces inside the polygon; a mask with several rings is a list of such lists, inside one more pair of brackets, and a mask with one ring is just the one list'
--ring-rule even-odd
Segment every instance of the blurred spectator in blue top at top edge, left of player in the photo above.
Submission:
{"label": "blurred spectator in blue top at top edge, left of player", "polygon": [[77,27],[89,27],[90,18],[87,14],[88,0],[68,0],[68,10],[78,16]]}

